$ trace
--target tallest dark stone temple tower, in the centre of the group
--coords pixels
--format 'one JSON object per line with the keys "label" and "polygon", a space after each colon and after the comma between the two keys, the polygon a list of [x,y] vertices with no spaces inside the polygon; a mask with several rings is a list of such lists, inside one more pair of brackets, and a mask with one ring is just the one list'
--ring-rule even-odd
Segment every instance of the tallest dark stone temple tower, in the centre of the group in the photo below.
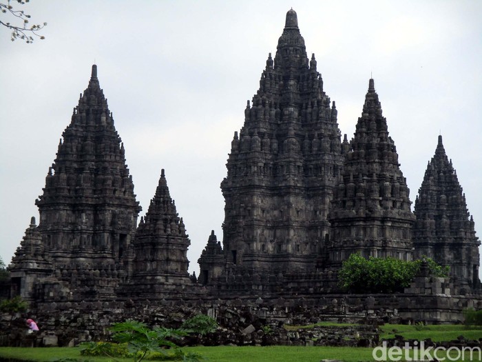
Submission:
{"label": "tallest dark stone temple tower, in the centre of the group", "polygon": [[289,10],[276,55],[269,54],[244,125],[234,133],[221,183],[228,267],[315,268],[342,160],[335,102]]}

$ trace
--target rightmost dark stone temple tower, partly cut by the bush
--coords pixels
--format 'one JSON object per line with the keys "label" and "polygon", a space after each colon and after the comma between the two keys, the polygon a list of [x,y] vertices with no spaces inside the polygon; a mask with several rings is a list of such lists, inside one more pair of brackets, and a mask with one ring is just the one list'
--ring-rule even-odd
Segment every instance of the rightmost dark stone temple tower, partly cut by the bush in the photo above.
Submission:
{"label": "rightmost dark stone temple tower, partly cut by the bush", "polygon": [[415,215],[413,241],[417,257],[430,257],[450,266],[455,292],[480,288],[480,241],[441,136],[415,201]]}

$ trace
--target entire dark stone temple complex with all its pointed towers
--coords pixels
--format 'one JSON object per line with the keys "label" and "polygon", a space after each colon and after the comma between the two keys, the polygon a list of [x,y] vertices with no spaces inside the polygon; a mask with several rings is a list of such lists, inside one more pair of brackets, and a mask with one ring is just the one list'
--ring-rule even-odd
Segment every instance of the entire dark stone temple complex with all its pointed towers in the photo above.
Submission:
{"label": "entire dark stone temple complex with all its pointed towers", "polygon": [[[407,290],[430,294],[433,308],[449,303],[450,293],[481,299],[480,241],[441,137],[412,212],[374,80],[353,139],[342,139],[335,101],[315,54],[306,54],[294,10],[234,132],[221,191],[222,241],[211,232],[196,278],[187,271],[189,225],[178,216],[164,170],[138,223],[124,145],[94,65],[36,200],[39,225],[32,218],[9,267],[11,294],[35,303],[319,300],[340,295],[337,270],[359,252],[427,256],[450,266],[450,281],[421,279]],[[337,298],[333,308],[346,312],[337,307],[345,297]],[[390,303],[419,308],[410,299]]]}

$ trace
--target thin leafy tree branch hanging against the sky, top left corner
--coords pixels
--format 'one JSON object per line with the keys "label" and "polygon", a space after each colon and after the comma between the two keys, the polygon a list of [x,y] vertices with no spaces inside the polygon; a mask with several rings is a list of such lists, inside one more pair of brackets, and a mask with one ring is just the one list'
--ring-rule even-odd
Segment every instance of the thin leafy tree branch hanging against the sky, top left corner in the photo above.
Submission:
{"label": "thin leafy tree branch hanging against the sky, top left corner", "polygon": [[[20,5],[25,5],[29,0],[15,0]],[[17,39],[22,39],[26,43],[33,43],[34,37],[39,39],[45,39],[45,37],[38,33],[47,23],[30,25],[29,19],[30,15],[25,14],[23,10],[14,10],[13,6],[10,5],[12,0],[7,0],[7,3],[0,3],[0,10],[3,16],[12,19],[15,23],[10,23],[8,20],[0,20],[0,25],[6,26],[9,30],[12,30],[10,34],[10,39],[15,41]]]}

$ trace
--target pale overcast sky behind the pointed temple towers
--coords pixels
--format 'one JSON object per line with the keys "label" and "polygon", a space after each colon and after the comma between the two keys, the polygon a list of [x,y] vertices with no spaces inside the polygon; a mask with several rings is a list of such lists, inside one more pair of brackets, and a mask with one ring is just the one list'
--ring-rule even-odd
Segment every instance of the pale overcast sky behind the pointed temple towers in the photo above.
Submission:
{"label": "pale overcast sky behind the pointed temple towers", "polygon": [[[16,3],[12,3],[17,6]],[[38,210],[48,167],[92,63],[145,214],[165,168],[191,239],[222,240],[220,182],[233,132],[297,12],[308,55],[350,139],[373,73],[415,201],[439,132],[482,228],[482,1],[65,1],[21,6],[45,40],[0,28],[0,256]],[[0,15],[4,17],[4,15]]]}

